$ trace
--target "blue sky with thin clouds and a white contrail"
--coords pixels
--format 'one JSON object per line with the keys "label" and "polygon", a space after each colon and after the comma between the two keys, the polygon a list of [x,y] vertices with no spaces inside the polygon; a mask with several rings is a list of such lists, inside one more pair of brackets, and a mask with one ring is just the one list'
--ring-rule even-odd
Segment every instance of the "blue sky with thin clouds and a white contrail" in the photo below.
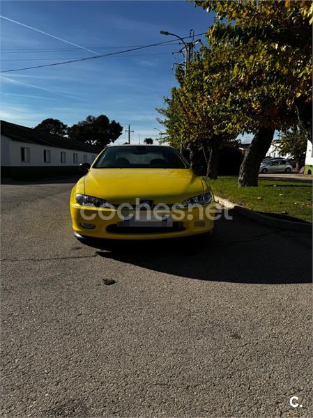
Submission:
{"label": "blue sky with thin clouds and a white contrail", "polygon": [[[213,16],[188,1],[3,1],[1,15],[100,54],[169,40],[159,31],[202,33]],[[94,55],[43,33],[1,19],[1,69],[43,65]],[[201,37],[204,40],[204,37]],[[126,48],[125,48],[126,47]],[[180,45],[142,49],[128,56],[1,74],[1,118],[35,126],[44,118],[68,125],[106,114],[133,141],[155,137],[162,125],[155,107],[175,84],[171,67]],[[119,141],[125,141],[125,133]]]}

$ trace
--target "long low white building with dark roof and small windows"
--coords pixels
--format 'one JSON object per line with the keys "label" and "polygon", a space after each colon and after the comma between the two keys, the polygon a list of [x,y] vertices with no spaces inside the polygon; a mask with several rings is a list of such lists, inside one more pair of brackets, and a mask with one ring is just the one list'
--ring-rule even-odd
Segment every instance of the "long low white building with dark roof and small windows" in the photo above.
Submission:
{"label": "long low white building with dark roof and small windows", "polygon": [[79,173],[79,163],[91,164],[101,149],[75,139],[1,121],[3,177],[40,178]]}

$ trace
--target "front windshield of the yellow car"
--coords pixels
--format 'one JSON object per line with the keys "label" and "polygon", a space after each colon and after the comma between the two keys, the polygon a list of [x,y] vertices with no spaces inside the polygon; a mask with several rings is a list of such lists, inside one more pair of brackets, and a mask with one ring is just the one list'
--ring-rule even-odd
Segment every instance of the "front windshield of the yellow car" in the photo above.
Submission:
{"label": "front windshield of the yellow car", "polygon": [[93,169],[188,169],[188,164],[174,148],[130,145],[106,148]]}

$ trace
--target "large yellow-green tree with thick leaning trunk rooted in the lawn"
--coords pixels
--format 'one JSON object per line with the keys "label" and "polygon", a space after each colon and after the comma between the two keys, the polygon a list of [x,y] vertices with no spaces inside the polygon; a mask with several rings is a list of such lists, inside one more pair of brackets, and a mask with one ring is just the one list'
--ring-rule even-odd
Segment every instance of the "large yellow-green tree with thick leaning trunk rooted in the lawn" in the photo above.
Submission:
{"label": "large yellow-green tree with thick leaning trunk rooted in the lawn", "polygon": [[312,139],[310,3],[208,0],[196,4],[217,14],[208,42],[220,53],[225,70],[213,84],[219,86],[215,92],[220,103],[233,110],[231,123],[255,134],[238,185],[256,186],[275,129],[293,125],[297,112]]}

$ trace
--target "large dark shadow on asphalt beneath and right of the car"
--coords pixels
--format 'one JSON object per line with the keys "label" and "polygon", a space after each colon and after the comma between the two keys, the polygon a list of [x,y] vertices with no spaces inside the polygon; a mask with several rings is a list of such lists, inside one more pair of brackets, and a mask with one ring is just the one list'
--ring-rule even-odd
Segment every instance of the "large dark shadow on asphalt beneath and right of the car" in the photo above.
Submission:
{"label": "large dark shadow on asphalt beneath and right of the car", "polygon": [[256,224],[234,211],[207,238],[94,242],[96,254],[179,277],[246,284],[312,282],[310,235]]}

